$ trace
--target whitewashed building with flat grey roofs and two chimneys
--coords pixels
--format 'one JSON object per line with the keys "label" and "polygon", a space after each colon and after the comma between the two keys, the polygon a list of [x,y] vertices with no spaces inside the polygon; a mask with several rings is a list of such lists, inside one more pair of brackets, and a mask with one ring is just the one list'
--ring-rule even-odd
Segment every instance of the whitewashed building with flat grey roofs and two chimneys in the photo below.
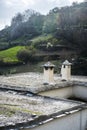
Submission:
{"label": "whitewashed building with flat grey roofs and two chimneys", "polygon": [[86,130],[87,77],[71,76],[70,65],[62,65],[62,77],[53,73],[50,63],[43,66],[43,74],[0,76],[0,130],[43,130],[46,124],[46,130],[53,130],[52,121],[55,130],[70,130],[73,121],[74,130]]}

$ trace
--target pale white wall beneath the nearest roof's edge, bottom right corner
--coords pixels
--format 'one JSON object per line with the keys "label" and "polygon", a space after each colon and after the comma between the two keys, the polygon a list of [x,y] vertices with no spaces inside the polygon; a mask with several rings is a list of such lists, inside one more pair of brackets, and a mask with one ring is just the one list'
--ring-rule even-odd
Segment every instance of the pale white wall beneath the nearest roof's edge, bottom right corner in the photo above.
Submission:
{"label": "pale white wall beneath the nearest roof's edge, bottom right corner", "polygon": [[87,109],[54,119],[29,130],[86,130],[86,121]]}

